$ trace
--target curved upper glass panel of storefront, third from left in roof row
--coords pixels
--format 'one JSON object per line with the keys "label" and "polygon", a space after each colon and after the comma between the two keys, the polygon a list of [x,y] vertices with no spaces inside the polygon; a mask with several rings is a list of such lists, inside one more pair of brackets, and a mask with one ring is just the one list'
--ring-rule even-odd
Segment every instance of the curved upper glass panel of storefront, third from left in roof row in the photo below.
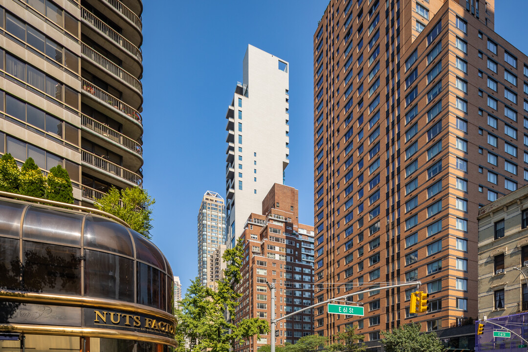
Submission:
{"label": "curved upper glass panel of storefront, third from left in roof row", "polygon": [[96,216],[86,217],[84,245],[134,257],[132,240],[125,227]]}

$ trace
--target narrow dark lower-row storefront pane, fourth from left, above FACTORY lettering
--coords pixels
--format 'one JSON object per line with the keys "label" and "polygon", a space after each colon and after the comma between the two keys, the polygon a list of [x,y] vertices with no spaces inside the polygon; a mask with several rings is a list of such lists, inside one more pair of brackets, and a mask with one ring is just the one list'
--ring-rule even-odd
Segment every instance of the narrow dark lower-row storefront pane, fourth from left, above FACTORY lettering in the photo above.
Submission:
{"label": "narrow dark lower-row storefront pane, fourth from left, above FACTORY lettering", "polygon": [[162,272],[150,265],[137,262],[137,303],[144,306],[165,309],[162,304]]}

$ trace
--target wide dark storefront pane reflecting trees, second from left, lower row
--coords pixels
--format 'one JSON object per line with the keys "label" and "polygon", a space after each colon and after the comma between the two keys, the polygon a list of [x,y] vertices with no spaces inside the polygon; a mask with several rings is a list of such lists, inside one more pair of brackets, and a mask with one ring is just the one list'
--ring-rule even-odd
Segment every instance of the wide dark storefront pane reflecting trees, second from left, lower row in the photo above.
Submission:
{"label": "wide dark storefront pane reflecting trees, second from left, lower row", "polygon": [[23,241],[22,251],[24,290],[81,294],[82,258],[79,248]]}

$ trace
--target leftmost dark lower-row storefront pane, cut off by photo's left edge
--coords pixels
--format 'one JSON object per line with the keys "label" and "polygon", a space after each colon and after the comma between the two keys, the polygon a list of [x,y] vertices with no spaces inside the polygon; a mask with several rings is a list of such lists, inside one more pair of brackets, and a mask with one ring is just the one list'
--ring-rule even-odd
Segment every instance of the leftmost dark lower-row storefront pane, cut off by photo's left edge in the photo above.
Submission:
{"label": "leftmost dark lower-row storefront pane, cut off by photo's left edge", "polygon": [[[8,239],[0,237],[0,289],[19,290],[20,289],[20,258],[18,258],[18,239]],[[4,306],[5,302],[0,302],[0,317],[2,312],[10,309]],[[6,321],[6,320],[1,320]]]}

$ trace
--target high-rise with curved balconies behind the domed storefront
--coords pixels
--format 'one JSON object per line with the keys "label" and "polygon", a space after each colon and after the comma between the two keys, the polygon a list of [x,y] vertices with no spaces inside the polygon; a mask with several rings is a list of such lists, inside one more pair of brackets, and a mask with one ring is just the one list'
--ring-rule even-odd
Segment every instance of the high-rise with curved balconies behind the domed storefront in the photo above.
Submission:
{"label": "high-rise with curved balconies behind the domed storefront", "polygon": [[142,186],[140,0],[0,1],[0,154],[62,165],[77,204]]}

